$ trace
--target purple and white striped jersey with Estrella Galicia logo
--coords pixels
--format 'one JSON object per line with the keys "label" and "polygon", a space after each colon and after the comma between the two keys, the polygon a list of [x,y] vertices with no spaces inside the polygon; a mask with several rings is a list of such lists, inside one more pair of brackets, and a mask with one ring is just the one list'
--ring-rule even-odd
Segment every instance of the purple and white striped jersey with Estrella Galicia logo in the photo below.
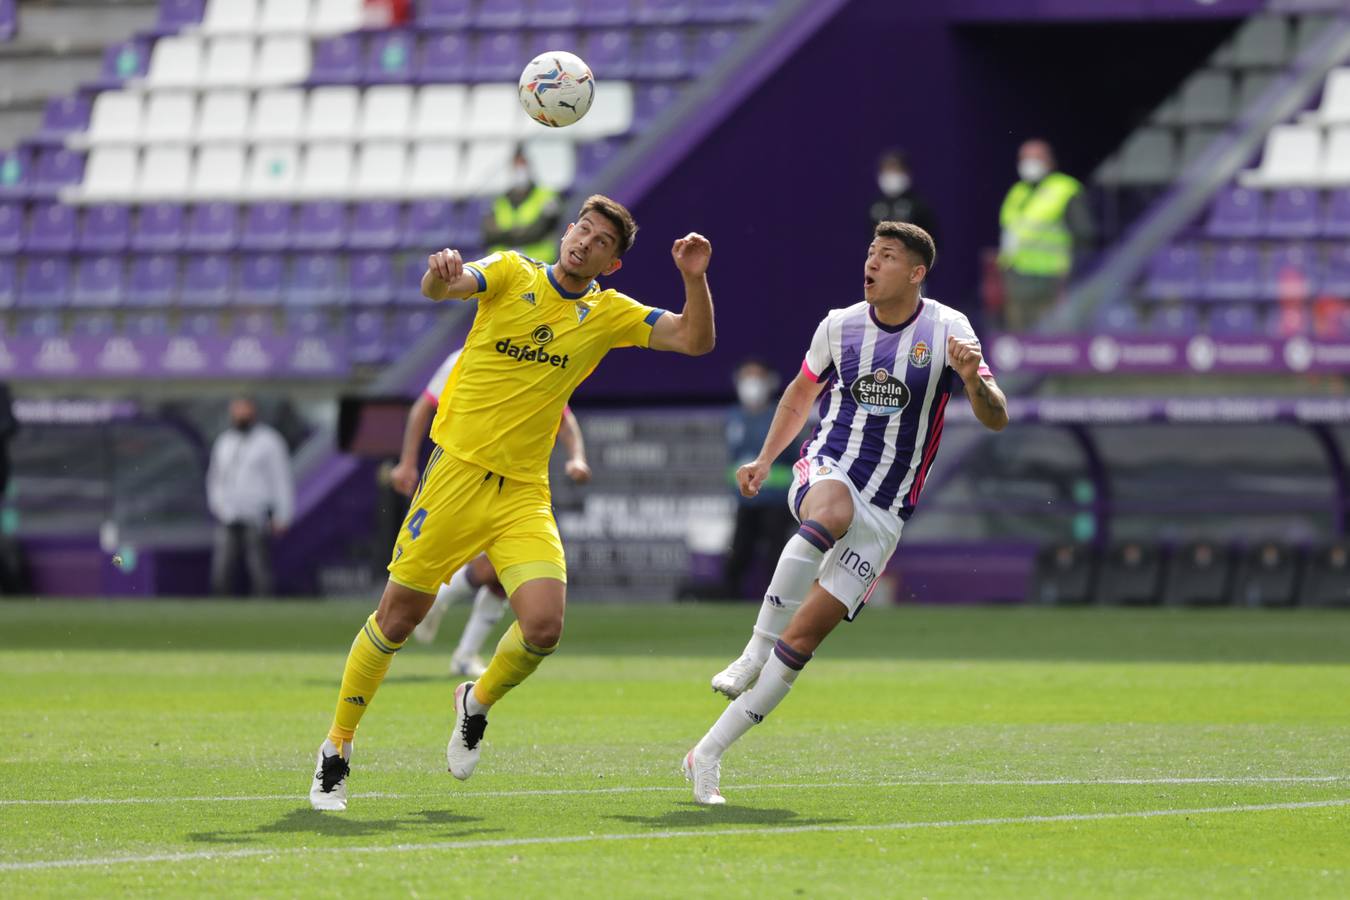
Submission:
{"label": "purple and white striped jersey with Estrella Galicia logo", "polygon": [[936,300],[922,298],[899,325],[879,322],[860,302],[829,312],[802,362],[813,382],[828,379],[821,422],[802,456],[836,460],[864,501],[902,519],[914,513],[942,440],[956,381],[949,335],[979,341],[963,313]]}

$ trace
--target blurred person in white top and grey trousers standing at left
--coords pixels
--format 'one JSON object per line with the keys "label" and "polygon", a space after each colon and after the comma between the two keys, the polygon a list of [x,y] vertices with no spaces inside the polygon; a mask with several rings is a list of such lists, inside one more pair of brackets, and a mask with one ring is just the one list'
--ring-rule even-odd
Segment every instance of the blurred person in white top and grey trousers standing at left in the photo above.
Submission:
{"label": "blurred person in white top and grey trousers standing at left", "polygon": [[207,505],[217,522],[211,556],[212,592],[234,592],[235,568],[243,557],[251,592],[269,596],[270,540],[290,525],[296,486],[286,441],[258,421],[258,405],[248,397],[230,402],[230,428],[211,449]]}

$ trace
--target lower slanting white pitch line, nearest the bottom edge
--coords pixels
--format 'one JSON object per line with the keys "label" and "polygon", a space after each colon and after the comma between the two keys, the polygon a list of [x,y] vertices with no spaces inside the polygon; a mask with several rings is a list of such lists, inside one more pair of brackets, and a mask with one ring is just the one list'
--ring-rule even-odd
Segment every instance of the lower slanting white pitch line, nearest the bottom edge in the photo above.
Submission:
{"label": "lower slanting white pitch line, nearest the bottom edge", "polygon": [[[556,846],[564,843],[593,843],[617,841],[675,841],[680,838],[729,838],[763,834],[838,834],[859,831],[910,831],[919,828],[967,828],[1000,824],[1054,824],[1060,822],[1103,822],[1107,819],[1157,819],[1179,815],[1220,815],[1228,812],[1273,812],[1277,810],[1316,810],[1350,806],[1350,797],[1336,800],[1307,800],[1301,803],[1261,803],[1235,807],[1197,807],[1193,810],[1137,810],[1131,812],[1065,812],[1061,815],[1027,815],[1000,819],[950,819],[938,822],[888,822],[878,824],[798,824],[767,828],[706,828],[703,831],[648,831],[621,834],[575,834],[543,838],[485,838],[481,841],[435,841],[428,843],[387,843],[364,847],[240,847],[238,850],[198,850],[194,853],[157,853],[142,857],[104,857],[74,860],[35,860],[31,862],[0,862],[0,872],[23,869],[77,869],[88,866],[136,865],[147,862],[194,862],[211,860],[243,860],[248,857],[289,857],[301,853],[418,853],[425,850],[478,850],[490,847]],[[709,816],[716,820],[716,814]]]}

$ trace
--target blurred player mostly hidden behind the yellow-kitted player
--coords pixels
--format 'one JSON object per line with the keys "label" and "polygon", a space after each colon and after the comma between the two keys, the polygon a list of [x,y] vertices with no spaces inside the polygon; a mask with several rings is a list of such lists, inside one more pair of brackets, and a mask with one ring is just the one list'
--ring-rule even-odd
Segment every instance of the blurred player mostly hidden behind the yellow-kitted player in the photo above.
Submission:
{"label": "blurred player mostly hidden behind the yellow-kitted player", "polygon": [[[431,432],[431,422],[436,416],[436,407],[440,405],[440,395],[446,390],[450,372],[455,368],[455,362],[459,360],[460,352],[463,352],[463,348],[456,349],[446,358],[446,362],[436,368],[431,381],[427,382],[427,387],[408,412],[408,425],[404,428],[404,447],[398,457],[398,466],[389,474],[394,490],[404,497],[412,497],[417,488],[420,475],[417,463],[421,455],[421,444]],[[570,406],[563,407],[563,422],[558,430],[558,440],[567,448],[564,468],[567,478],[578,484],[589,482],[590,466],[586,463],[586,443],[582,440],[580,425],[576,422],[576,417],[572,414]],[[506,611],[506,591],[502,588],[501,582],[497,580],[497,571],[493,568],[486,553],[479,555],[471,563],[466,563],[448,582],[440,586],[440,590],[436,592],[436,600],[431,604],[431,610],[427,611],[425,618],[417,623],[413,637],[423,644],[435,641],[446,610],[452,603],[467,600],[470,596],[474,598],[474,609],[468,615],[468,622],[464,623],[463,633],[459,636],[459,645],[450,657],[450,673],[477,679],[487,668],[479,656],[483,641],[487,640],[487,636]]]}

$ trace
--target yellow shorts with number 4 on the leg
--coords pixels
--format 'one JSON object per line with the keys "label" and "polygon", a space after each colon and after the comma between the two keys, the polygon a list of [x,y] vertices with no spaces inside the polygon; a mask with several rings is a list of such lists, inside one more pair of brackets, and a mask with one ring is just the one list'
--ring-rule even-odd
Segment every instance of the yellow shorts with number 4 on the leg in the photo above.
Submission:
{"label": "yellow shorts with number 4 on the leg", "polygon": [[435,594],[483,551],[508,596],[531,579],[567,582],[548,484],[502,478],[436,447],[398,530],[389,578]]}

